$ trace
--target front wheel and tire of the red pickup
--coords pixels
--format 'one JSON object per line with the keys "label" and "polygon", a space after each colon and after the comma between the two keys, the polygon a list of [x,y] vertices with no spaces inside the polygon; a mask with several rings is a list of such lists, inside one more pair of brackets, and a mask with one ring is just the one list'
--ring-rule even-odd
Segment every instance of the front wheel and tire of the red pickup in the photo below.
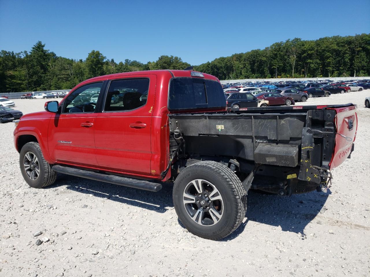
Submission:
{"label": "front wheel and tire of the red pickup", "polygon": [[[36,157],[36,166],[34,166],[34,170],[31,169],[33,164],[28,166],[28,170],[26,170],[26,164],[28,161],[33,160],[33,157]],[[19,165],[21,168],[21,172],[23,175],[24,180],[27,184],[32,188],[44,188],[49,185],[52,185],[55,180],[57,179],[57,172],[53,171],[50,165],[45,161],[44,155],[41,152],[40,146],[36,142],[29,142],[24,144],[20,151],[19,155]],[[38,169],[38,174],[37,174]],[[34,175],[31,172],[34,171]],[[37,174],[37,178],[36,178]],[[33,178],[32,178],[33,177]]]}

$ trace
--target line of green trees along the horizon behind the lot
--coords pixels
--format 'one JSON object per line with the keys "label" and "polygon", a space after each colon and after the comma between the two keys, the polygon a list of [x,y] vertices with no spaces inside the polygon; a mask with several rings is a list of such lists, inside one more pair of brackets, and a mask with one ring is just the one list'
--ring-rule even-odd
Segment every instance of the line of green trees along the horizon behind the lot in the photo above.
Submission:
{"label": "line of green trees along the horizon behind the lot", "polygon": [[[188,66],[181,58],[167,55],[146,64],[129,59],[117,63],[95,50],[85,60],[68,59],[58,57],[38,41],[30,52],[1,51],[0,92],[71,89],[85,79],[105,74]],[[194,69],[220,80],[369,76],[370,34],[294,38],[265,49],[220,57]]]}

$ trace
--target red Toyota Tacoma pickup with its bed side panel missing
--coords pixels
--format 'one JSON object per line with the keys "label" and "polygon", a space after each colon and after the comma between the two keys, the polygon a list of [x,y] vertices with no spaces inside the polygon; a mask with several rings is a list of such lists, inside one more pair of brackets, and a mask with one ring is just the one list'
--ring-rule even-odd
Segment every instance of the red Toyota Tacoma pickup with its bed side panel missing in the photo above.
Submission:
{"label": "red Toyota Tacoma pickup with its bed side panel missing", "polygon": [[45,110],[14,130],[31,187],[57,172],[154,192],[172,182],[179,219],[207,239],[238,228],[250,188],[320,190],[357,129],[353,104],[227,109],[219,80],[192,70],[92,78]]}

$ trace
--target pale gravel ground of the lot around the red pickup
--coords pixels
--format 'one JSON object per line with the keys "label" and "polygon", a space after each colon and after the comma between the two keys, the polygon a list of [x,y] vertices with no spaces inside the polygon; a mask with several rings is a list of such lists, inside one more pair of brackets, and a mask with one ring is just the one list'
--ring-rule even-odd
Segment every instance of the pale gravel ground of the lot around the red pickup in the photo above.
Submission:
{"label": "pale gravel ground of the lot around the red pickup", "polygon": [[[59,175],[46,189],[28,187],[14,123],[1,124],[0,276],[369,276],[367,96],[370,90],[297,103],[358,105],[351,159],[333,170],[325,192],[250,192],[242,226],[222,241],[179,224],[170,185],[148,192]],[[45,100],[14,102],[30,113]]]}

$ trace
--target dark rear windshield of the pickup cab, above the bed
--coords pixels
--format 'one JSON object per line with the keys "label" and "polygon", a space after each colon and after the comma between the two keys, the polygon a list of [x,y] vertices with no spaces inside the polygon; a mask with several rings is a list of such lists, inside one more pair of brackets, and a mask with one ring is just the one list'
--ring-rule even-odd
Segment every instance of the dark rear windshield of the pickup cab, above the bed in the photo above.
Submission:
{"label": "dark rear windshield of the pickup cab, above the bed", "polygon": [[168,98],[169,110],[226,106],[221,84],[207,79],[173,78]]}

